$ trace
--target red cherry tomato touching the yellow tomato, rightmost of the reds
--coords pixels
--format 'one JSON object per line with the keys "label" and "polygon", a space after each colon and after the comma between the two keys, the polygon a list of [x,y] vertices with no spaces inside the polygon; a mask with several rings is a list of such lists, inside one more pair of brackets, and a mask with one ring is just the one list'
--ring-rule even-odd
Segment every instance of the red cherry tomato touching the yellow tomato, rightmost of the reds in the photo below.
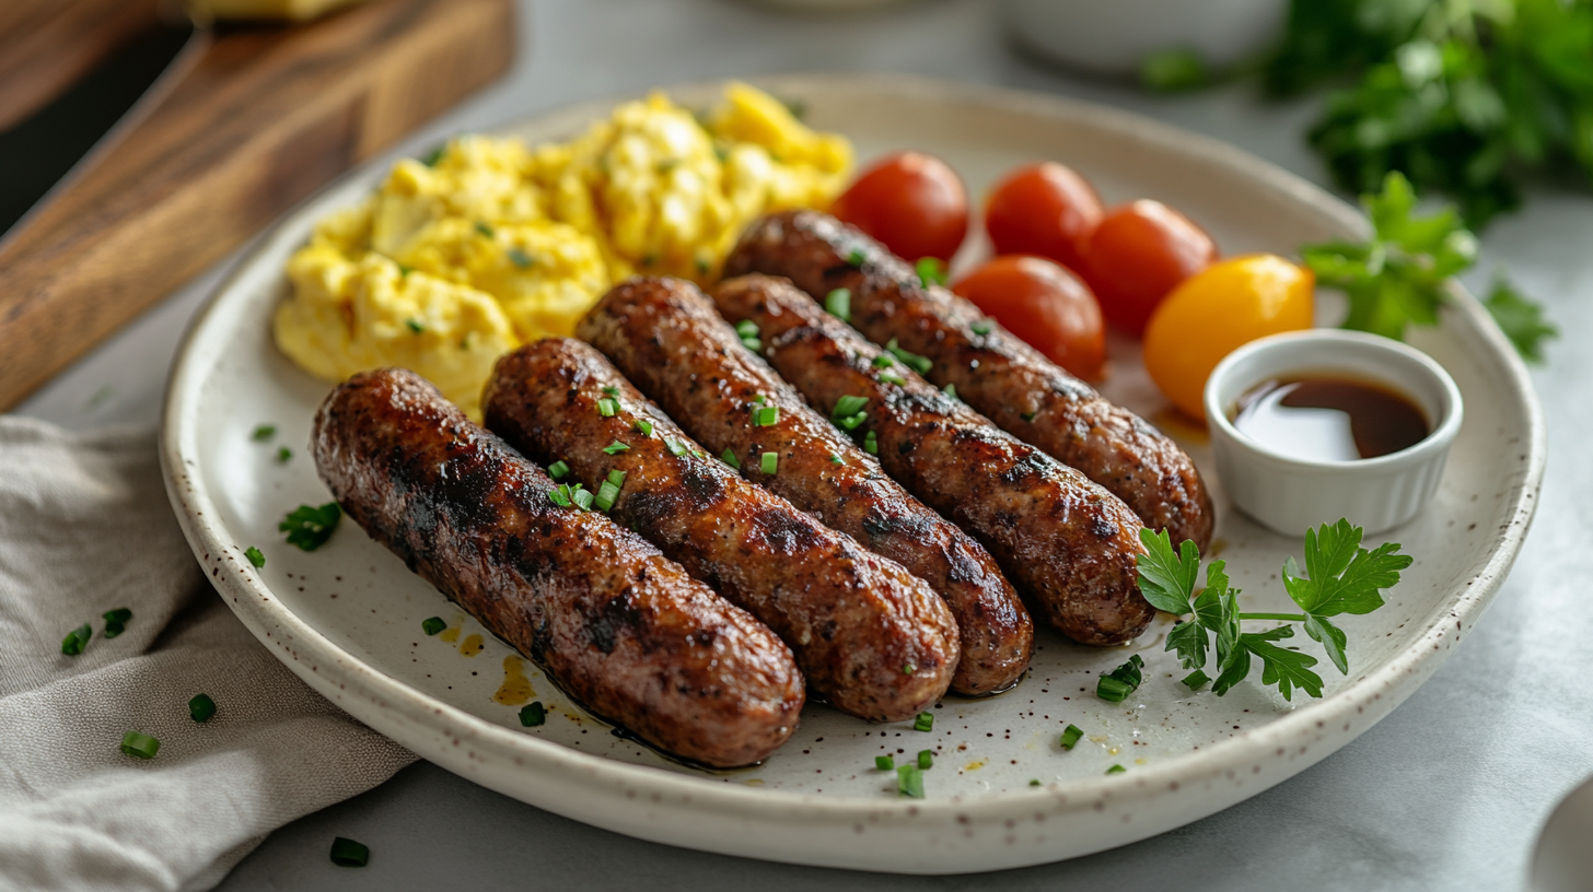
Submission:
{"label": "red cherry tomato touching the yellow tomato, rightmost of the reds", "polygon": [[1160,201],[1139,199],[1107,213],[1083,242],[1085,280],[1107,322],[1136,338],[1161,298],[1217,260],[1204,229]]}

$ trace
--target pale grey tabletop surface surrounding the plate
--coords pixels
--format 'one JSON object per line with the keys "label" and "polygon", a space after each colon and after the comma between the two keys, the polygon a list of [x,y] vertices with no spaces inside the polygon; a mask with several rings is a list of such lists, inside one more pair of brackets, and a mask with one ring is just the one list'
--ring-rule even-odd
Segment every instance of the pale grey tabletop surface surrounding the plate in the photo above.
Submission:
{"label": "pale grey tabletop surface surrounding the plate", "polygon": [[[1016,56],[997,8],[898,3],[790,16],[725,0],[546,0],[523,6],[523,51],[495,88],[408,140],[572,100],[685,80],[804,70],[890,70],[1051,91],[1129,108],[1238,143],[1311,180],[1309,104],[1243,88],[1157,99],[1059,75]],[[1405,706],[1340,753],[1254,800],[1164,836],[1066,863],[981,876],[897,878],[704,855],[594,830],[421,763],[274,833],[223,882],[252,889],[1520,889],[1555,803],[1593,773],[1593,438],[1582,389],[1593,357],[1593,196],[1537,191],[1483,239],[1550,304],[1564,338],[1534,381],[1548,408],[1542,507],[1497,602]],[[223,264],[225,268],[225,264]],[[153,425],[172,352],[218,268],[143,315],[19,411],[70,427]],[[333,836],[371,847],[362,870],[327,859]]]}

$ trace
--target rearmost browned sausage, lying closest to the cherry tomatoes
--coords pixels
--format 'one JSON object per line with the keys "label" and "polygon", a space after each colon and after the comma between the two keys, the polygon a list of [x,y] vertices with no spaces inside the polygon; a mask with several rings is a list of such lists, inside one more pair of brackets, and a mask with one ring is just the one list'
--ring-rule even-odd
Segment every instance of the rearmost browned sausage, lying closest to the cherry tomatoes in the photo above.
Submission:
{"label": "rearmost browned sausage, lying closest to the cherry tomatoes", "polygon": [[[1211,494],[1195,462],[1134,413],[1106,400],[1039,350],[852,226],[790,210],[755,221],[725,261],[725,276],[784,276],[816,298],[851,290],[851,314],[871,341],[895,338],[929,357],[929,378],[1004,430],[1078,468],[1128,503],[1174,545],[1211,545]],[[978,330],[975,330],[978,327]],[[981,334],[983,331],[983,334]]]}

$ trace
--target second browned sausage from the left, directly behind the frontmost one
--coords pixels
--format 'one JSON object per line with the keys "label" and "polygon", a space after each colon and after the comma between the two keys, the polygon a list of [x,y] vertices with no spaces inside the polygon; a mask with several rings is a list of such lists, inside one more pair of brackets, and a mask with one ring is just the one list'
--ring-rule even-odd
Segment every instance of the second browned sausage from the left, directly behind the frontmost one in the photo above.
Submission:
{"label": "second browned sausage from the left, directly behind the frontmost one", "polygon": [[709,457],[596,349],[550,338],[500,357],[483,405],[575,481],[620,471],[613,518],[763,620],[841,712],[908,718],[946,693],[957,628],[924,581]]}

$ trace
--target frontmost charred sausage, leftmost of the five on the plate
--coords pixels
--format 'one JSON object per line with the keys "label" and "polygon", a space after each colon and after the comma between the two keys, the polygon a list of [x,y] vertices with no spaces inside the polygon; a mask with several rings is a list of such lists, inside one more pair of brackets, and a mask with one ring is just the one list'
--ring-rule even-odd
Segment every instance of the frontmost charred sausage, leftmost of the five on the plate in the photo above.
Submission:
{"label": "frontmost charred sausage, leftmost of the five on the plate", "polygon": [[371,538],[599,715],[726,768],[796,730],[803,680],[774,634],[642,537],[553,505],[542,468],[421,376],[350,378],[312,449]]}

